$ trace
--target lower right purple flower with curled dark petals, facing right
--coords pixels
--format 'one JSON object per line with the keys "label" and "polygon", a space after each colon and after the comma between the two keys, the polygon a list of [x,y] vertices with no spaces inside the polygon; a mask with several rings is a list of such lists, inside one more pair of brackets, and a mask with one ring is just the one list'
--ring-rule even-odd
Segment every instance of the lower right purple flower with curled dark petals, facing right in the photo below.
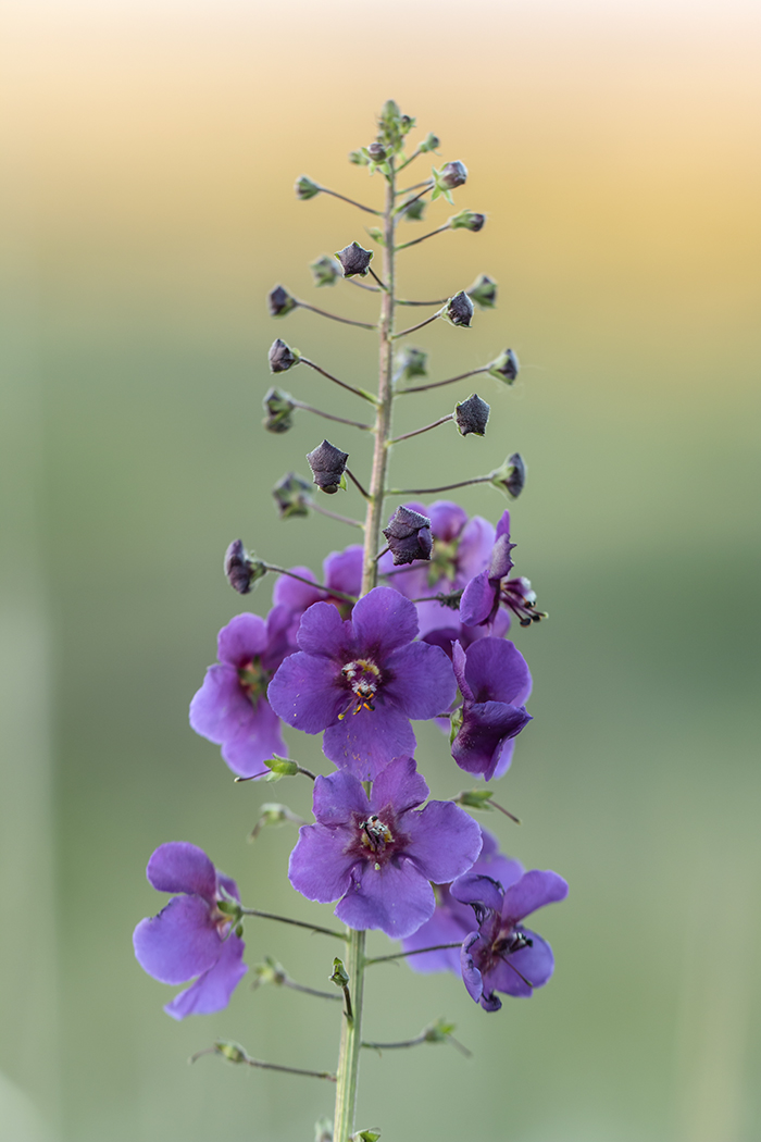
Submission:
{"label": "lower right purple flower with curled dark petals, facing right", "polygon": [[470,904],[478,931],[464,940],[461,951],[462,979],[468,994],[484,1011],[499,1011],[495,991],[531,996],[552,975],[552,949],[541,935],[525,928],[529,912],[565,900],[568,885],[557,872],[532,869],[505,888],[491,876],[468,872],[452,885],[452,895]]}

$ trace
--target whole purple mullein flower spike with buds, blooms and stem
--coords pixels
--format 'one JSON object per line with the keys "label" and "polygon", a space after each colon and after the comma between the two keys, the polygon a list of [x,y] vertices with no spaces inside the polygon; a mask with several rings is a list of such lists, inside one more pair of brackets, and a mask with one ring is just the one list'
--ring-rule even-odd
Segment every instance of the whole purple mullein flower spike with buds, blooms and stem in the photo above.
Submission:
{"label": "whole purple mullein flower spike with buds, blooms and stem", "polygon": [[[201,849],[172,842],[160,845],[147,867],[151,885],[171,899],[157,916],[141,920],[133,936],[137,959],[146,972],[163,983],[189,984],[164,1008],[175,1019],[227,1006],[249,970],[243,960],[249,918],[282,922],[335,940],[341,955],[327,962],[325,973],[334,984],[332,991],[297,983],[272,958],[253,970],[260,982],[340,1002],[334,1072],[265,1062],[240,1044],[220,1039],[200,1052],[334,1083],[333,1119],[317,1123],[317,1137],[323,1142],[372,1142],[380,1134],[379,1127],[357,1129],[355,1124],[363,1047],[445,1040],[461,1046],[452,1038],[454,1028],[444,1020],[399,1043],[365,1039],[367,970],[380,962],[405,959],[418,972],[452,972],[484,1011],[499,1011],[500,996],[528,997],[552,975],[550,946],[525,922],[568,891],[557,872],[526,871],[518,860],[503,855],[495,838],[470,815],[468,810],[495,807],[511,815],[494,802],[493,788],[483,785],[452,801],[427,801],[429,788],[415,762],[412,723],[436,719],[443,731],[442,762],[485,783],[505,774],[517,738],[531,721],[526,702],[532,689],[526,661],[508,634],[511,625],[531,627],[544,614],[528,579],[511,574],[515,544],[508,510],[493,523],[481,516],[468,518],[453,500],[428,502],[428,497],[479,483],[516,499],[526,476],[519,453],[493,472],[443,486],[399,489],[387,483],[394,445],[404,447],[408,439],[448,421],[462,436],[483,436],[489,416],[487,402],[472,393],[432,423],[394,436],[397,397],[422,392],[438,396],[437,389],[479,375],[492,378],[489,387],[496,383],[502,388],[513,383],[519,368],[516,354],[505,348],[480,368],[429,381],[424,379],[426,352],[406,341],[410,333],[434,321],[467,329],[476,307],[492,308],[496,301],[496,283],[485,274],[447,298],[414,301],[397,296],[399,251],[447,230],[477,233],[486,222],[483,214],[461,210],[421,238],[398,240],[400,222],[420,222],[426,200],[444,198],[452,203],[452,192],[468,178],[464,164],[452,161],[399,188],[399,176],[410,163],[439,147],[431,134],[405,158],[406,138],[414,126],[414,119],[389,100],[381,111],[375,142],[349,156],[380,176],[382,208],[355,202],[306,176],[296,184],[299,199],[330,194],[377,216],[378,226],[367,232],[382,251],[380,272],[374,268],[373,252],[356,241],[334,257],[318,258],[311,270],[316,286],[333,286],[341,279],[375,293],[378,321],[357,322],[325,313],[282,286],[268,298],[273,317],[307,308],[372,330],[379,338],[377,393],[350,378],[332,376],[280,338],[269,351],[273,373],[297,367],[316,370],[371,411],[366,423],[324,412],[278,387],[270,388],[264,401],[264,424],[273,433],[288,432],[296,412],[305,410],[334,423],[333,440],[341,440],[343,425],[367,434],[372,443],[369,477],[362,472],[361,481],[355,458],[349,468],[349,455],[323,440],[307,457],[311,481],[289,473],[274,489],[282,517],[323,512],[362,531],[364,542],[327,555],[318,581],[307,566],[276,566],[250,554],[242,540],[233,541],[225,555],[229,584],[248,595],[257,580],[275,574],[273,608],[266,619],[244,611],[219,632],[218,662],[209,667],[191,702],[191,725],[221,747],[237,780],[291,777],[314,782],[314,823],[302,823],[284,805],[265,805],[258,829],[288,820],[301,825],[289,863],[290,883],[308,900],[335,902],[343,927],[246,907],[235,880],[220,872]],[[404,314],[413,306],[434,312],[397,329],[399,309]],[[349,482],[364,501],[364,522],[333,513],[321,502],[324,496],[348,489]],[[394,499],[403,502],[391,510]],[[326,772],[315,774],[289,759],[284,723],[323,735]],[[369,957],[365,934],[372,928],[400,941],[400,950]]]}

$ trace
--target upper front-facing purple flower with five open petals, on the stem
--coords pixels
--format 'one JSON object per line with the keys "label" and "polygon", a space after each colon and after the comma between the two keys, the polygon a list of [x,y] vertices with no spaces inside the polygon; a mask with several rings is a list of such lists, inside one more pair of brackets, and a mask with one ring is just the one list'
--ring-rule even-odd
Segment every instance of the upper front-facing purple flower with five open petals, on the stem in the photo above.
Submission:
{"label": "upper front-facing purple flower with five open petals, on the stem", "polygon": [[410,718],[436,717],[456,692],[444,651],[413,642],[416,634],[414,605],[390,587],[361,598],[347,621],[315,603],[301,619],[301,650],[269,683],[269,703],[305,733],[325,730],[325,755],[373,781],[392,757],[414,750]]}

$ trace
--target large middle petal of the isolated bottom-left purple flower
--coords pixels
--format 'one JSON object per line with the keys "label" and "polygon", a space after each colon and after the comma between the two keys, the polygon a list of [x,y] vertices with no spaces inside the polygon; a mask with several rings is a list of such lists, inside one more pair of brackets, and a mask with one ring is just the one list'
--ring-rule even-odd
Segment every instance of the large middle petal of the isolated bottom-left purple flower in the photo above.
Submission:
{"label": "large middle petal of the isolated bottom-left purple flower", "polygon": [[132,935],[137,960],[161,983],[185,983],[209,971],[220,936],[201,896],[173,896],[157,916],[140,920]]}

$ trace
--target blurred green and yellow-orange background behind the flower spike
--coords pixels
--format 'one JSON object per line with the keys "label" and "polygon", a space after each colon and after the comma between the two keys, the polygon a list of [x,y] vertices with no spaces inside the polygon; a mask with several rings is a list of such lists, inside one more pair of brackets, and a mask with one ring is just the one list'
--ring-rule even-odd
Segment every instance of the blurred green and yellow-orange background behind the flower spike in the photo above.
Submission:
{"label": "blurred green and yellow-orange background behind the flower spike", "polygon": [[[501,290],[470,332],[419,335],[432,377],[507,344],[524,365],[513,391],[478,385],[486,440],[439,429],[397,449],[392,478],[527,460],[516,555],[551,619],[516,635],[535,721],[500,796],[524,825],[486,823],[570,896],[537,925],[552,983],[500,1014],[453,978],[373,970],[369,1035],[447,1015],[475,1057],[369,1055],[361,1125],[399,1142],[761,1135],[758,31],[750,6],[677,0],[6,6],[3,1139],[275,1142],[331,1111],[332,1088],[186,1059],[222,1035],[332,1067],[332,1007],[243,986],[228,1012],[177,1024],[130,936],[169,839],[202,845],[251,907],[331,915],[288,886],[292,831],[245,844],[262,801],[307,812],[309,790],[234,786],[187,702],[242,609],[220,573],[230,539],[318,571],[355,538],[277,521],[269,488],[323,428],[305,413],[266,435],[260,400],[275,336],[369,386],[372,335],[274,323],[264,298],[282,281],[372,320],[372,299],[316,293],[307,270],[364,241],[365,218],[291,186],[307,172],[378,198],[346,153],[388,96],[468,164],[456,208],[488,215],[410,250],[404,293],[481,271]],[[306,369],[288,381],[359,411]],[[400,402],[399,431],[454,395]],[[331,439],[366,471],[361,434]],[[493,520],[504,506],[461,499]],[[265,582],[251,605],[269,597]],[[435,794],[462,788],[438,732],[419,740]],[[246,942],[250,963],[324,983],[317,939],[262,923]]]}

